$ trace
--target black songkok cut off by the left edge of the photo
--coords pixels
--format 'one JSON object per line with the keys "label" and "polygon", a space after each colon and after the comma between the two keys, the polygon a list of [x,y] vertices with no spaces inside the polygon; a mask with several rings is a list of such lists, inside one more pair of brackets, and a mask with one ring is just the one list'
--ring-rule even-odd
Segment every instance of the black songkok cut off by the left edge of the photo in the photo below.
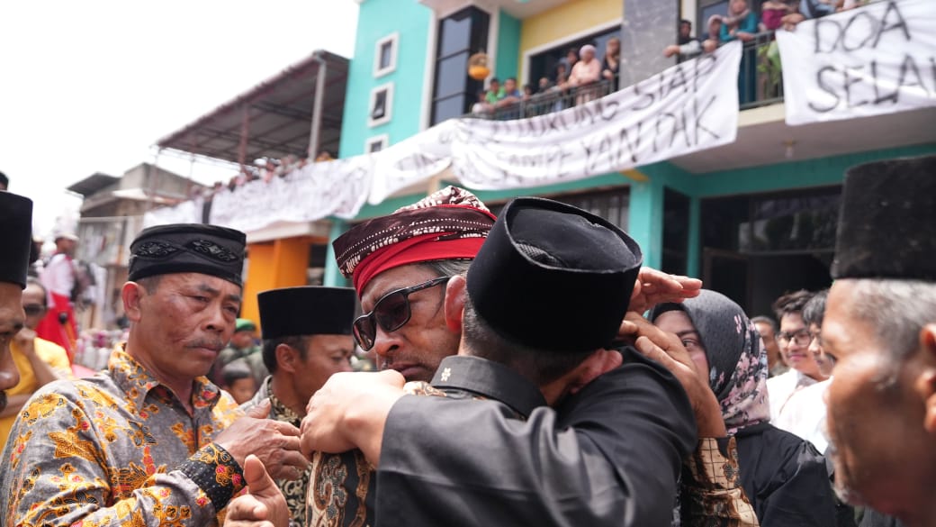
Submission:
{"label": "black songkok cut off by the left edge of the photo", "polygon": [[0,191],[0,281],[26,287],[33,245],[33,202]]}

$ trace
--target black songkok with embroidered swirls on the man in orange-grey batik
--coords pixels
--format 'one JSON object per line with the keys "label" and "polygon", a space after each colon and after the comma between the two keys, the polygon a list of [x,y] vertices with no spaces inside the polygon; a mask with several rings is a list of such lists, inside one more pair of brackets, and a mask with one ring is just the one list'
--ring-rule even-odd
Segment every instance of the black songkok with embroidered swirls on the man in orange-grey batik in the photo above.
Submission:
{"label": "black songkok with embroidered swirls on the man in orange-grey batik", "polygon": [[216,225],[177,223],[143,229],[130,245],[128,279],[201,273],[241,285],[245,243],[241,231]]}

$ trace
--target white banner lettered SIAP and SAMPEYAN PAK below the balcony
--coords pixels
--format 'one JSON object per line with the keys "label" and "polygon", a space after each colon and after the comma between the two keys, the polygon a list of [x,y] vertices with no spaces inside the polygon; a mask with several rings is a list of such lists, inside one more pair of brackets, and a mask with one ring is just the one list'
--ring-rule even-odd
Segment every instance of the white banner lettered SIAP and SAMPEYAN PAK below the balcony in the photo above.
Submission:
{"label": "white banner lettered SIAP and SAMPEYAN PAK below the balcony", "polygon": [[459,119],[452,170],[469,188],[528,188],[733,143],[740,60],[741,43],[731,42],[562,112]]}

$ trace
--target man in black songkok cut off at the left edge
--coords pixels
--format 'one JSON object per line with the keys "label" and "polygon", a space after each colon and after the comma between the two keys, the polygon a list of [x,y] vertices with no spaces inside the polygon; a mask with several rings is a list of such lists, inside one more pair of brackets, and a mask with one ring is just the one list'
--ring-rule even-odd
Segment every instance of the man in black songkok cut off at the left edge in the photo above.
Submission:
{"label": "man in black songkok cut off at the left edge", "polygon": [[4,226],[0,231],[0,411],[3,411],[7,408],[6,390],[20,381],[9,344],[25,323],[22,289],[26,287],[32,244],[33,202],[0,192],[0,225]]}

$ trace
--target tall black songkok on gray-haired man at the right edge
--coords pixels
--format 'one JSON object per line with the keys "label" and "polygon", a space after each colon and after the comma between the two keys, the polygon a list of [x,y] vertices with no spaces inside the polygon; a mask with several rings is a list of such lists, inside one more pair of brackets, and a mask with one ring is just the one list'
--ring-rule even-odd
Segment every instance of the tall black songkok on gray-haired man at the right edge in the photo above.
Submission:
{"label": "tall black songkok on gray-haired man at the right edge", "polygon": [[845,175],[834,279],[936,281],[936,156],[875,161]]}

